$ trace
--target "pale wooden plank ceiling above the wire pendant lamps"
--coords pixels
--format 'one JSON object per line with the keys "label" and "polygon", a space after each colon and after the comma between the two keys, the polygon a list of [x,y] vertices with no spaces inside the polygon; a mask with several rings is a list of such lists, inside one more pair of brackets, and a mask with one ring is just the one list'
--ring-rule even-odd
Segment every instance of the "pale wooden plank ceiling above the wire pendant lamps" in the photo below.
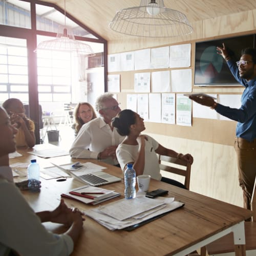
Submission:
{"label": "pale wooden plank ceiling above the wire pendant lamps", "polygon": [[[65,0],[45,1],[64,9]],[[111,41],[130,37],[109,28],[116,11],[139,5],[140,0],[66,0],[66,11],[101,37]],[[202,20],[256,9],[255,0],[165,0],[164,5],[183,12],[192,26]]]}

